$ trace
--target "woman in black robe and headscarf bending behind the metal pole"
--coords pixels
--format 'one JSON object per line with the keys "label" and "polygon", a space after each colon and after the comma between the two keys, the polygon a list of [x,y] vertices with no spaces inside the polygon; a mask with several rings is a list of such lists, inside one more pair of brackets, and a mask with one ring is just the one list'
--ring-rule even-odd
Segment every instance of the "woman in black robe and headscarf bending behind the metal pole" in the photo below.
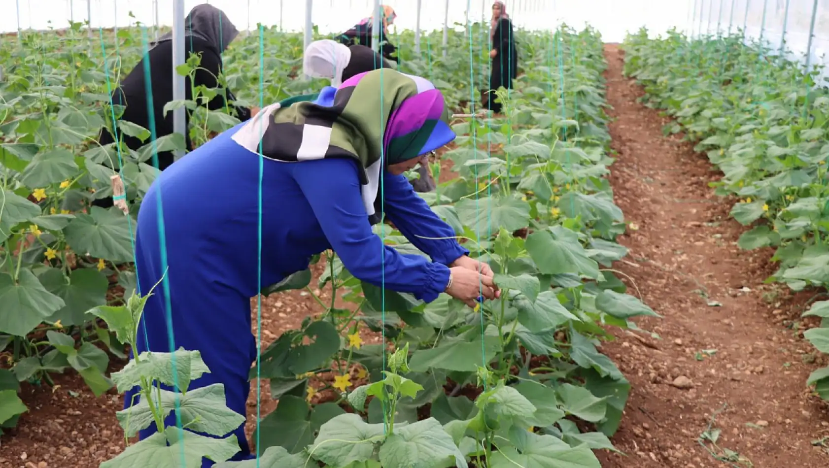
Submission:
{"label": "woman in black robe and headscarf bending behind the metal pole", "polygon": [[[227,49],[228,44],[239,36],[239,31],[230,22],[225,12],[209,4],[196,5],[184,19],[185,25],[185,53],[201,55],[199,70],[194,73],[193,80],[186,79],[185,99],[192,99],[192,88],[206,86],[207,88],[218,88],[216,78],[221,75],[222,61],[221,54]],[[144,62],[149,60],[150,81],[153,89],[153,114],[155,117],[156,138],[161,138],[173,133],[172,112],[164,115],[164,106],[172,101],[172,32],[161,36],[148,51],[147,55],[135,65],[132,71],[121,80],[118,89],[112,94],[113,104],[125,106],[121,120],[135,123],[143,128],[150,128],[150,118],[147,112],[147,89],[144,75]],[[225,95],[217,94],[208,104],[207,109],[222,109],[235,97],[229,89],[225,89]],[[251,110],[244,107],[233,107],[237,118],[242,122],[249,120]],[[189,119],[188,119],[189,120]],[[111,122],[110,122],[111,123]],[[130,137],[116,128],[117,136],[112,135],[108,128],[101,130],[99,142],[101,145],[116,142],[118,137],[122,138],[127,147],[137,151],[147,142]],[[185,128],[185,141],[187,148],[191,148],[190,134]],[[158,168],[162,171],[173,162],[172,152],[158,153]],[[115,171],[119,167],[112,167]],[[109,208],[113,205],[111,197],[95,200],[93,205]]]}

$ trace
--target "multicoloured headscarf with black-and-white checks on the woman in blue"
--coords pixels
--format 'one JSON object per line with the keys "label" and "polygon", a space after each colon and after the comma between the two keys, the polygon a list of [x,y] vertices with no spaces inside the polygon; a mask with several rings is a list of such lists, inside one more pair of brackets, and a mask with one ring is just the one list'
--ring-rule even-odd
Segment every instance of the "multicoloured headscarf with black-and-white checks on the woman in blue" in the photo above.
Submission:
{"label": "multicoloured headscarf with black-and-white checks on the woman in blue", "polygon": [[[328,103],[324,103],[328,104]],[[348,157],[359,163],[363,203],[380,221],[383,166],[405,162],[455,139],[444,95],[429,80],[395,70],[372,70],[346,80],[331,105],[271,104],[233,140],[279,162]]]}

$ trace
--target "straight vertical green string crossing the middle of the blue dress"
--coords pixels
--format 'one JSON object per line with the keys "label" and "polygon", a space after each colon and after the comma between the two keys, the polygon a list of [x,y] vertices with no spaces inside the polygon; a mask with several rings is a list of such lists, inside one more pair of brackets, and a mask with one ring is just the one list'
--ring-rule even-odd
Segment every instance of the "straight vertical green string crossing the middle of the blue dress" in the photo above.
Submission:
{"label": "straight vertical green string crossing the middle of the blue dress", "polygon": [[[259,23],[259,109],[264,108],[264,30],[262,23]],[[261,112],[261,110],[259,111]],[[259,135],[262,134],[262,123],[259,119]],[[256,251],[259,255],[259,262],[256,269],[256,468],[259,468],[259,446],[262,431],[259,430],[259,421],[262,416],[262,180],[264,178],[264,154],[262,153],[262,138],[259,138],[259,194],[258,194],[258,232],[256,239]]]}

